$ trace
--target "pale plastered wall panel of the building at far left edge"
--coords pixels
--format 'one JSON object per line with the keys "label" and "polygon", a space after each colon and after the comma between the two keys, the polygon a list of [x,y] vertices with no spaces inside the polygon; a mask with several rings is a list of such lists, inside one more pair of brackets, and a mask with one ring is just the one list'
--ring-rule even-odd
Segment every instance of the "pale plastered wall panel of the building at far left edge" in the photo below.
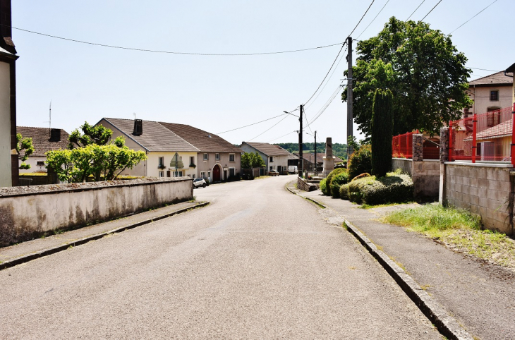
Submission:
{"label": "pale plastered wall panel of the building at far left edge", "polygon": [[0,61],[0,187],[11,177],[11,66]]}

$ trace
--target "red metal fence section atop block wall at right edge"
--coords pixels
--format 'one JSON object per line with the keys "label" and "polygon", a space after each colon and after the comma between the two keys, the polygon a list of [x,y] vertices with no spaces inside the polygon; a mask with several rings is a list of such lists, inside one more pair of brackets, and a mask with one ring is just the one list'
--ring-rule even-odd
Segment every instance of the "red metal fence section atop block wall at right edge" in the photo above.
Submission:
{"label": "red metal fence section atop block wall at right edge", "polygon": [[511,162],[515,145],[514,107],[450,121],[449,161]]}

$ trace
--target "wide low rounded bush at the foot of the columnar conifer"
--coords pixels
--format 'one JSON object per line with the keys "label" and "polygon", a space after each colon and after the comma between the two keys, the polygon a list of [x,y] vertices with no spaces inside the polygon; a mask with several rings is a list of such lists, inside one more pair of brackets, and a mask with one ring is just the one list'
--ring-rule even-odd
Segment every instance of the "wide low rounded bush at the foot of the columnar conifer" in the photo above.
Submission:
{"label": "wide low rounded bush at the foot of the columnar conifer", "polygon": [[360,178],[350,183],[349,199],[367,205],[406,202],[413,199],[413,181],[408,175],[394,173]]}

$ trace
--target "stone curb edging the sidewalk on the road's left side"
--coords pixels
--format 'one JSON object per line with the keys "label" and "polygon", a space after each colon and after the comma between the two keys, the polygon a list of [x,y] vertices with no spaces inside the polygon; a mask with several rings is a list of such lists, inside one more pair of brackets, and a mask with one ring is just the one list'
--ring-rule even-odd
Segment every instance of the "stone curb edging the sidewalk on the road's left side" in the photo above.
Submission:
{"label": "stone curb edging the sidewalk on the road's left side", "polygon": [[139,221],[139,222],[135,222],[133,224],[129,224],[128,226],[121,226],[121,227],[116,228],[116,229],[112,229],[112,230],[109,230],[109,231],[104,231],[103,233],[97,233],[95,235],[86,236],[84,238],[79,238],[78,240],[73,241],[73,242],[68,242],[68,243],[64,243],[64,244],[61,244],[61,245],[57,245],[57,246],[52,247],[52,248],[40,250],[40,251],[38,251],[36,253],[32,253],[32,254],[29,254],[29,255],[23,255],[23,256],[20,256],[20,257],[15,257],[13,260],[8,260],[6,262],[0,263],[0,270],[7,269],[7,268],[10,268],[10,267],[14,267],[16,265],[21,265],[22,263],[29,262],[29,261],[32,261],[32,260],[36,260],[37,258],[40,258],[40,257],[44,257],[44,256],[52,255],[52,254],[55,254],[55,253],[59,253],[59,252],[61,252],[63,250],[66,250],[66,249],[68,249],[70,247],[75,247],[75,245],[81,245],[81,244],[84,244],[84,243],[88,243],[90,241],[98,240],[99,238],[103,238],[104,236],[107,236],[110,233],[121,233],[122,231],[126,231],[126,230],[129,230],[129,229],[134,229],[137,226],[143,226],[144,224],[149,224],[149,223],[152,223],[153,221],[159,221],[159,219],[166,219],[167,217],[171,217],[171,216],[174,216],[176,214],[181,214],[183,212],[187,212],[190,209],[196,209],[196,208],[199,208],[199,207],[205,207],[206,205],[209,205],[209,204],[210,204],[210,202],[199,203],[198,205],[192,205],[191,207],[183,208],[183,209],[177,210],[175,212],[170,212],[169,214],[164,214],[164,215],[161,215],[161,216],[158,216],[158,217],[154,217],[152,219],[145,219],[143,221]]}

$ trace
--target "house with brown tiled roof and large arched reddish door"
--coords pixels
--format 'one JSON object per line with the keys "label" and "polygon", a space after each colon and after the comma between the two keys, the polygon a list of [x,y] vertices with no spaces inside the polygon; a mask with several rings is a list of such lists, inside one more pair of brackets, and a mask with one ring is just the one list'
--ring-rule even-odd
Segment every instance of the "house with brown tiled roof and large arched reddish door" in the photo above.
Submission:
{"label": "house with brown tiled roof and large arched reddish door", "polygon": [[199,150],[195,162],[198,177],[219,182],[240,176],[243,150],[239,147],[200,128],[177,123],[159,123]]}

